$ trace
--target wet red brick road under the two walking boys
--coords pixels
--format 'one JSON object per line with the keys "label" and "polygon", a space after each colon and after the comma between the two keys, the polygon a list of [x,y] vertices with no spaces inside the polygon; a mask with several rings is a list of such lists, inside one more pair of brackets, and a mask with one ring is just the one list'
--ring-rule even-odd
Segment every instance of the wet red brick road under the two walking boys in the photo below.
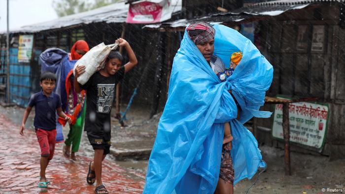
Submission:
{"label": "wet red brick road under the two walking boys", "polygon": [[[47,167],[48,188],[38,188],[40,150],[31,130],[19,134],[19,126],[0,114],[0,193],[94,193],[95,186],[86,183],[90,158],[71,162],[62,156],[62,144],[56,145],[53,160]],[[144,175],[104,160],[103,182],[109,193],[139,194]]]}

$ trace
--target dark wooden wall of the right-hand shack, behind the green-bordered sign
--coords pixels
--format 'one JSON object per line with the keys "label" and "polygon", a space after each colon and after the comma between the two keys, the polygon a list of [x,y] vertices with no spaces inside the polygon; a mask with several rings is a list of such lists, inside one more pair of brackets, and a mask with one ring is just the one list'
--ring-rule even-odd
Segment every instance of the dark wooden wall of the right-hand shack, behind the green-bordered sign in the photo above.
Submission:
{"label": "dark wooden wall of the right-hand shack, behind the green-bordered sign", "polygon": [[[327,103],[328,129],[321,154],[331,159],[345,158],[344,2],[312,2],[304,9],[282,13],[258,24],[262,53],[275,68],[268,95],[318,97],[317,101]],[[272,1],[258,6],[274,6],[276,3]],[[280,1],[279,5],[291,3],[303,2],[286,0]],[[273,107],[266,106],[265,109],[273,110]],[[258,125],[271,128],[272,122],[272,118],[271,122],[261,119]],[[270,133],[264,133],[259,137],[261,142],[279,144],[270,138]],[[305,151],[296,146],[292,149]]]}

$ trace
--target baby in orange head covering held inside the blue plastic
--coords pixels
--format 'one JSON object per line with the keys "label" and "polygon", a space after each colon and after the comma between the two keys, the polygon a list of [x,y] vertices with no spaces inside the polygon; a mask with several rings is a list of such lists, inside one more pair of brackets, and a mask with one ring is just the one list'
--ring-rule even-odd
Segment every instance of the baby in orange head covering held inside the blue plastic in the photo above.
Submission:
{"label": "baby in orange head covering held inside the blue plastic", "polygon": [[[231,55],[230,58],[230,67],[225,68],[223,72],[218,72],[217,76],[220,79],[221,82],[224,82],[227,80],[228,77],[230,77],[236,66],[239,65],[240,61],[242,59],[242,52],[235,52]],[[231,92],[230,92],[231,93]],[[235,98],[234,98],[235,99]],[[236,99],[235,99],[236,100]],[[229,122],[224,123],[224,139],[223,139],[223,144],[229,143],[233,140],[233,136],[231,135],[231,128]],[[227,144],[225,146],[227,150],[231,150],[231,145]]]}

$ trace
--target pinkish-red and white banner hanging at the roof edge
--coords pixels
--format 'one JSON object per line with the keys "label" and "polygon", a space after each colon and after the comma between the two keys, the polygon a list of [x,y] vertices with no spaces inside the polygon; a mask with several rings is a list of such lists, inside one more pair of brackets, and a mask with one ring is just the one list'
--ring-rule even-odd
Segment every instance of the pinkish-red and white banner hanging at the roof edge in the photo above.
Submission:
{"label": "pinkish-red and white banner hanging at the roof edge", "polygon": [[141,0],[130,4],[127,23],[152,24],[169,20],[173,14],[171,0]]}

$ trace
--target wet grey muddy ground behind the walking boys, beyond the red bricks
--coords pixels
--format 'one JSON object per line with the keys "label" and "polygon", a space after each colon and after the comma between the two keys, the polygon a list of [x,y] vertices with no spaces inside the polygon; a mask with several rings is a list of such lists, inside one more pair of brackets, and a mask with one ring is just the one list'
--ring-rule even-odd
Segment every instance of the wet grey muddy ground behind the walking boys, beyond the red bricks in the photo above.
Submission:
{"label": "wet grey muddy ground behind the walking boys, beyond the red bricks", "polygon": [[[121,107],[122,110],[125,107]],[[5,113],[6,117],[9,118],[13,123],[20,125],[25,109],[14,106],[14,107],[2,107],[0,106],[0,112]],[[149,151],[152,148],[154,138],[156,135],[157,128],[157,118],[148,120],[149,109],[147,108],[131,108],[127,114],[128,120],[125,121],[127,127],[122,128],[118,121],[115,118],[112,118],[112,132],[111,132],[111,141],[112,154],[107,156],[107,159],[111,162],[124,167],[126,169],[132,170],[134,173],[145,174],[147,168],[147,159],[149,156]],[[29,118],[26,122],[26,128],[34,130],[34,117],[35,109],[31,111]],[[159,117],[158,117],[159,118]],[[64,137],[67,138],[69,132],[69,126],[66,125],[63,129]],[[57,149],[62,146],[57,146]],[[140,156],[140,153],[146,152],[146,155]],[[128,153],[133,152],[132,155],[128,158],[115,156],[113,153]],[[147,154],[148,152],[148,154]],[[79,152],[77,156],[93,158],[94,151],[89,144],[89,141],[86,136],[86,132],[83,132],[82,139],[80,143]],[[144,153],[145,154],[145,153]],[[140,160],[140,159],[145,160]],[[135,160],[136,159],[136,160]],[[139,160],[138,160],[139,159]],[[138,176],[134,175],[131,178],[138,179]]]}

